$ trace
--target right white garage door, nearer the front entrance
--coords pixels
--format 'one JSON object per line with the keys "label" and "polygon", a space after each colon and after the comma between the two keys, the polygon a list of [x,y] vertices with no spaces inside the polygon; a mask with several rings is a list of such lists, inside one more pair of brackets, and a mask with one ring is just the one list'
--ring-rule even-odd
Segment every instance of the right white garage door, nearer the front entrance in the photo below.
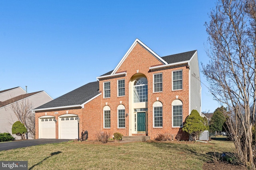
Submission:
{"label": "right white garage door, nearer the front entrance", "polygon": [[60,139],[78,138],[78,117],[62,117],[60,119]]}

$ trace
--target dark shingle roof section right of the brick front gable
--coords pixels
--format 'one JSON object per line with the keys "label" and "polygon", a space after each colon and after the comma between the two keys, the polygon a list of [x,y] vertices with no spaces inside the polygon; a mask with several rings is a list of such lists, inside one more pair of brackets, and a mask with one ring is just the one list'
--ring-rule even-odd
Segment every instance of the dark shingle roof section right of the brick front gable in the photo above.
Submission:
{"label": "dark shingle roof section right of the brick front gable", "polygon": [[188,61],[191,59],[191,57],[196,53],[196,50],[194,51],[188,51],[185,53],[179,53],[179,54],[174,54],[174,55],[168,55],[165,57],[161,57],[164,61],[166,61],[168,64],[171,63],[178,63],[181,61]]}

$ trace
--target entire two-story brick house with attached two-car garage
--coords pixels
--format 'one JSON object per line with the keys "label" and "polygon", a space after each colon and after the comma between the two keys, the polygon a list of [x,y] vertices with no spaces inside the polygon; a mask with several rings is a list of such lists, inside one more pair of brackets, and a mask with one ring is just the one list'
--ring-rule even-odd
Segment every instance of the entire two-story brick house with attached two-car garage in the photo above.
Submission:
{"label": "entire two-story brick house with attached two-car garage", "polygon": [[[88,131],[119,132],[124,136],[180,134],[192,109],[201,113],[197,51],[160,57],[136,39],[114,70],[36,112],[36,138],[75,139]],[[50,119],[55,119],[51,121]]]}

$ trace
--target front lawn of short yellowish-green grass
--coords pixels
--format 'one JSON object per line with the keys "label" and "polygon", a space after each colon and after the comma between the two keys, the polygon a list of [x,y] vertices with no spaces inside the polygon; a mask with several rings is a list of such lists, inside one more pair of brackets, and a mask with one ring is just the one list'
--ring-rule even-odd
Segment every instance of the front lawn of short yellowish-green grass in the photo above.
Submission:
{"label": "front lawn of short yellowish-green grass", "polygon": [[66,142],[0,151],[0,160],[28,160],[28,169],[186,169],[200,170],[213,153],[234,152],[230,141],[210,143]]}

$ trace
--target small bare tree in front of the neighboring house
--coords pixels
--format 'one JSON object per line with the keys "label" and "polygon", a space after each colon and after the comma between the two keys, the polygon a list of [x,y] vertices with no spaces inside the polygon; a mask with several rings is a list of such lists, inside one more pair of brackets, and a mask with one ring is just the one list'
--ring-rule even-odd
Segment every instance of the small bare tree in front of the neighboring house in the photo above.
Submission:
{"label": "small bare tree in front of the neighboring house", "polygon": [[18,120],[28,129],[28,132],[26,133],[26,139],[28,139],[28,133],[30,133],[31,137],[35,139],[35,114],[32,112],[31,102],[28,100],[13,102],[11,104],[11,108]]}

